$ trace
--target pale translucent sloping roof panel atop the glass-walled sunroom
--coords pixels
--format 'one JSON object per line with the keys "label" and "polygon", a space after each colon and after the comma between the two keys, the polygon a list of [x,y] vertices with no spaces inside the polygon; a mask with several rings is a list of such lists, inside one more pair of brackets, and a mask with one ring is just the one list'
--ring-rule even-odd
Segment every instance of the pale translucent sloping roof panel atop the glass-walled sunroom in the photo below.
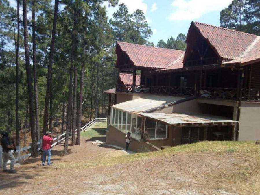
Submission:
{"label": "pale translucent sloping roof panel atop the glass-walled sunroom", "polygon": [[147,95],[141,98],[113,105],[112,107],[128,113],[139,113],[156,107],[164,107],[169,103],[173,103],[181,99],[185,98],[161,95]]}

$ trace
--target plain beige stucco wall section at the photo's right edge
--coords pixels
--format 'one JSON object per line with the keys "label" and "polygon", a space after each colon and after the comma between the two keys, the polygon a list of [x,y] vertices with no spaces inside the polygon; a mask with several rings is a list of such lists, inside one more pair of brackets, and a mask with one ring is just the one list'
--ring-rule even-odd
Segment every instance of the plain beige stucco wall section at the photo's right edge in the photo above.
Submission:
{"label": "plain beige stucco wall section at the photo's right edge", "polygon": [[241,103],[238,140],[260,140],[260,103]]}

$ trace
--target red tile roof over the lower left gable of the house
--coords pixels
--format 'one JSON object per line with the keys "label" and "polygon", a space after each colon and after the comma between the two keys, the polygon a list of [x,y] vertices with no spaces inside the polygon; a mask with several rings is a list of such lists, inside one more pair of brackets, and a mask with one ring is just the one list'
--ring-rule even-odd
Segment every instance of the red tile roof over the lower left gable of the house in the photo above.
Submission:
{"label": "red tile roof over the lower left gable of the house", "polygon": [[176,49],[165,49],[119,41],[117,41],[116,47],[117,55],[120,55],[120,52],[125,52],[134,66],[146,68],[168,68],[180,57],[183,57],[185,53],[185,51]]}

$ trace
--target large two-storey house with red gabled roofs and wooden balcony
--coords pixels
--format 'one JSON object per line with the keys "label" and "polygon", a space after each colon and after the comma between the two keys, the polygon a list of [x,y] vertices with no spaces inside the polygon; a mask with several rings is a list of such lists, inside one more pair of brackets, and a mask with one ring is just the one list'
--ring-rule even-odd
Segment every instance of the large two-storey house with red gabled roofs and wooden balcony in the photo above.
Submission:
{"label": "large two-storey house with red gabled roofs and wooden balcony", "polygon": [[[120,79],[108,143],[133,151],[201,140],[260,139],[260,36],[191,22],[187,49],[116,43]],[[140,84],[136,73],[140,72]]]}

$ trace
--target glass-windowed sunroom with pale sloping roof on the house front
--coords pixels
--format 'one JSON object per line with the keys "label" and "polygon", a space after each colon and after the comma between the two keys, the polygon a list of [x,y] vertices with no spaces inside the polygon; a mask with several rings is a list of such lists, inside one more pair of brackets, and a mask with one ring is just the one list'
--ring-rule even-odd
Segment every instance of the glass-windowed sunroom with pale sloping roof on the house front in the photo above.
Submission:
{"label": "glass-windowed sunroom with pale sloping roof on the house front", "polygon": [[147,119],[140,114],[143,111],[162,107],[183,99],[181,97],[147,95],[131,101],[111,106],[110,125],[123,133],[130,132],[131,137],[140,140],[142,129],[149,135],[149,140],[167,139],[168,126],[155,120]]}

